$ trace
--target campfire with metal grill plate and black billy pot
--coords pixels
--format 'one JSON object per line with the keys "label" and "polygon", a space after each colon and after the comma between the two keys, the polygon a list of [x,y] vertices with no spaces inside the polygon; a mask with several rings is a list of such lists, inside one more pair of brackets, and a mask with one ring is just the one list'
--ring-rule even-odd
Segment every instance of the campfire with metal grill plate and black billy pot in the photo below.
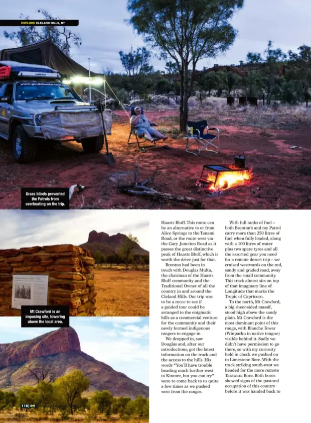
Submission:
{"label": "campfire with metal grill plate and black billy pot", "polygon": [[245,167],[245,156],[234,156],[234,164],[204,165],[197,185],[209,191],[221,191],[248,183],[252,169]]}

